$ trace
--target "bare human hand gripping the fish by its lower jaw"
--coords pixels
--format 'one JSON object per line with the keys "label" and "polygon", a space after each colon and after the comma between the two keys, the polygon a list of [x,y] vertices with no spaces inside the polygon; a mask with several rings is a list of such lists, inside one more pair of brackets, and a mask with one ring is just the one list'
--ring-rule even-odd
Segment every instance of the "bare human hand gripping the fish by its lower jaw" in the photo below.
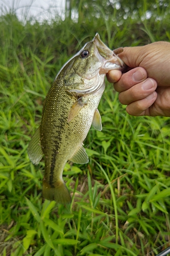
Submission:
{"label": "bare human hand gripping the fish by its lower jaw", "polygon": [[119,101],[133,116],[170,116],[170,43],[154,42],[141,47],[126,47],[118,56],[128,66],[122,74],[107,74],[119,92]]}

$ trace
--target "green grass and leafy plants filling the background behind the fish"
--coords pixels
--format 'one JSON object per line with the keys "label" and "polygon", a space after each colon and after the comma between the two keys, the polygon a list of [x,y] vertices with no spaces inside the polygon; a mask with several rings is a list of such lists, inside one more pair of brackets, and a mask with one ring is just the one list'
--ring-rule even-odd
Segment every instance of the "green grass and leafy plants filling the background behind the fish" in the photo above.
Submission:
{"label": "green grass and leafy plants filling the background behind the fish", "polygon": [[64,169],[71,205],[42,199],[44,163],[27,155],[56,74],[96,32],[111,49],[170,40],[169,7],[145,19],[143,3],[119,20],[116,9],[87,17],[82,6],[78,20],[51,24],[0,17],[1,255],[155,255],[170,245],[169,118],[129,116],[107,82],[103,131],[84,142],[90,161]]}

